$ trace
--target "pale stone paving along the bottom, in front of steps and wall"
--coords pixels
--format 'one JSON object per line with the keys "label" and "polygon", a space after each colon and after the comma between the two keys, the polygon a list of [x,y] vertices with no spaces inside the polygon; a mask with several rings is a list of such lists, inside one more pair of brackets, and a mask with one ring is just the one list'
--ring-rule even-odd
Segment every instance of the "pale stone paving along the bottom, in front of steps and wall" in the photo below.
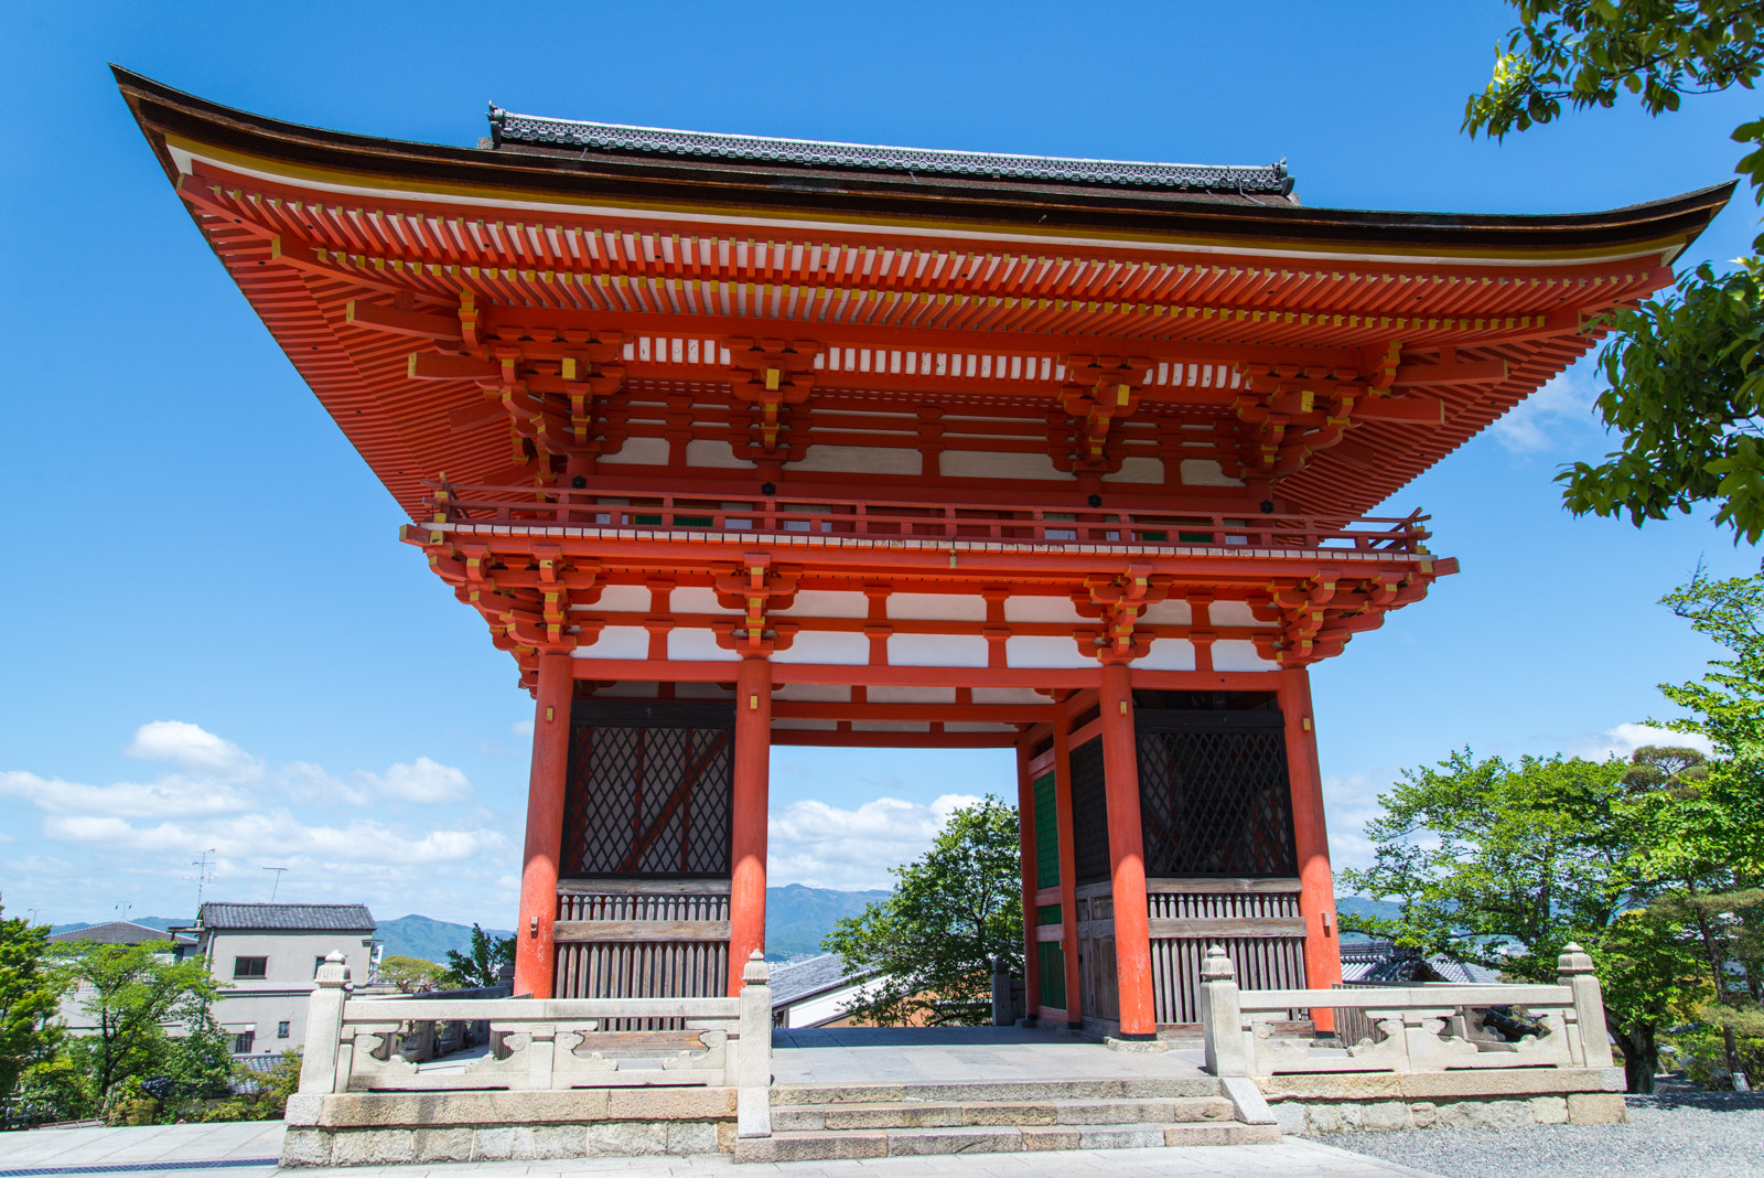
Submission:
{"label": "pale stone paving along the bottom, in front of steps and wall", "polygon": [[[141,1129],[37,1129],[0,1134],[0,1176],[41,1174],[238,1174],[268,1178],[280,1122],[236,1125],[148,1125]],[[219,1166],[217,1166],[219,1162]],[[1438,1178],[1425,1171],[1349,1153],[1314,1141],[1166,1150],[1073,1150],[1053,1153],[960,1153],[877,1157],[850,1162],[736,1166],[727,1155],[609,1157],[457,1166],[360,1166],[280,1171],[286,1178]]]}

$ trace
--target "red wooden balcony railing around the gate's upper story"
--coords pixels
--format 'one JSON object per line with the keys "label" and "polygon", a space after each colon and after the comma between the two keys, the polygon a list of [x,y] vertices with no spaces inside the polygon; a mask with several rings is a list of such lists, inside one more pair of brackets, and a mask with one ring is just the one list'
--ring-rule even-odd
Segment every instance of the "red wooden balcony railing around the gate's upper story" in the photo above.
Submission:
{"label": "red wooden balcony railing around the gate's upper story", "polygon": [[727,534],[826,534],[875,541],[1002,541],[1027,545],[1184,545],[1425,554],[1431,517],[1238,515],[1150,510],[1051,510],[764,496],[617,496],[603,490],[430,481],[437,524],[564,526]]}

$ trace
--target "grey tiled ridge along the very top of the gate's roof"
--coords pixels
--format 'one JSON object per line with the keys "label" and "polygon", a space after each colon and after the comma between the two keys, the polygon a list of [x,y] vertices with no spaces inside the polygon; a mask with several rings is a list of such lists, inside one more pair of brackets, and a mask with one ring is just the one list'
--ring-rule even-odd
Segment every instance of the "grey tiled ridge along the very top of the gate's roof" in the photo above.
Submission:
{"label": "grey tiled ridge along the very top of the gate's roof", "polygon": [[1286,196],[1293,190],[1293,178],[1286,175],[1286,160],[1252,166],[1150,164],[1111,159],[1060,159],[1053,155],[1000,155],[997,152],[946,152],[938,148],[670,130],[667,127],[626,127],[623,123],[517,115],[499,106],[490,106],[490,130],[497,146],[503,143],[531,143],[594,148],[602,152],[639,152],[646,155],[739,159],[766,164],[810,164],[817,168],[859,168],[864,171],[905,171],[940,176],[1155,187],[1185,192]]}

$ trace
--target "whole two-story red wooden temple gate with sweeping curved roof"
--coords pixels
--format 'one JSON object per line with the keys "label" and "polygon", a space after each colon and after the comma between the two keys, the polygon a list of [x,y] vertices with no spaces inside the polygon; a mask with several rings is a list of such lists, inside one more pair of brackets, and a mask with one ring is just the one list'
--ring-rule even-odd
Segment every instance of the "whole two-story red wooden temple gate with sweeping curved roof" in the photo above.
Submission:
{"label": "whole two-story red wooden temple gate with sweeping curved roof", "polygon": [[1014,748],[1041,1018],[1341,977],[1307,667],[1455,563],[1362,518],[1671,280],[1729,189],[1304,208],[1282,166],[492,111],[475,148],[118,71],[536,697],[517,991],[764,945],[771,744]]}

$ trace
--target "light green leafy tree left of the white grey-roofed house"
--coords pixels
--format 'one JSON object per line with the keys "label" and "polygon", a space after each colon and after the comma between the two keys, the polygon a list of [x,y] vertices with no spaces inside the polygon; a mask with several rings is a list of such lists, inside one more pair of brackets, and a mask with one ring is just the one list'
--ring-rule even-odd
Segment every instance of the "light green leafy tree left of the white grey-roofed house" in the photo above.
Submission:
{"label": "light green leafy tree left of the white grey-roofed house", "polygon": [[92,1033],[69,1035],[64,1051],[101,1107],[123,1081],[161,1102],[224,1090],[233,1063],[212,1014],[220,984],[206,963],[173,961],[168,942],[72,942],[58,945],[56,958],[92,1023]]}

